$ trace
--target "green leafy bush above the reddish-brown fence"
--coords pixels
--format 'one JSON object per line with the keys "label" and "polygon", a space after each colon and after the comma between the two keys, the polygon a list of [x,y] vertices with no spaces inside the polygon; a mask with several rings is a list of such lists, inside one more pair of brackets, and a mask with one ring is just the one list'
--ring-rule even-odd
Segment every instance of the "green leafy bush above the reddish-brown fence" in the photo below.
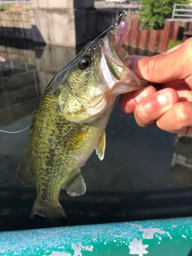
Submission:
{"label": "green leafy bush above the reddish-brown fence", "polygon": [[140,0],[140,21],[143,29],[161,30],[165,19],[171,18],[174,3],[189,4],[190,0]]}

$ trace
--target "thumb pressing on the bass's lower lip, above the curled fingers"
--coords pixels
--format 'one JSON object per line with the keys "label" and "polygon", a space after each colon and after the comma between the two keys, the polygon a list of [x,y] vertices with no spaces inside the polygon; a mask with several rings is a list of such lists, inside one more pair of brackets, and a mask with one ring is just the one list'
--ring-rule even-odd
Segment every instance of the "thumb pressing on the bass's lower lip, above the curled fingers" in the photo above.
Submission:
{"label": "thumb pressing on the bass's lower lip, above the curled fingers", "polygon": [[192,66],[191,54],[192,40],[188,39],[163,54],[152,57],[130,56],[130,69],[134,70],[139,78],[154,83],[185,79],[187,68]]}

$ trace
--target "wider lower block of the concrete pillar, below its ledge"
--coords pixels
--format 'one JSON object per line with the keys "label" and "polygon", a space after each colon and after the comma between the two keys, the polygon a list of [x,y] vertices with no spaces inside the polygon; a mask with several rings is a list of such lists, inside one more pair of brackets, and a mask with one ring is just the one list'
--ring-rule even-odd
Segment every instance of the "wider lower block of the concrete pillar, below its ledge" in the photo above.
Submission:
{"label": "wider lower block of the concrete pillar, below its ledge", "polygon": [[96,35],[95,18],[94,9],[31,9],[32,37],[34,42],[82,46]]}

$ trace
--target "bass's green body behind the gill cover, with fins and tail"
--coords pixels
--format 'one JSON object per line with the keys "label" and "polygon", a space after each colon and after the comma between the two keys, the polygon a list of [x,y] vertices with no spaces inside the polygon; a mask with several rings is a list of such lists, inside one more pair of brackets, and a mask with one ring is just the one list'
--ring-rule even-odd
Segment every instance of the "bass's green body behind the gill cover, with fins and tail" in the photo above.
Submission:
{"label": "bass's green body behind the gill cover, with fins and tail", "polygon": [[113,108],[94,122],[69,122],[58,114],[57,98],[58,91],[53,94],[51,88],[42,95],[30,127],[30,145],[19,162],[22,183],[29,186],[36,180],[38,198],[31,217],[36,213],[49,219],[65,217],[58,202],[60,190],[65,188],[71,196],[84,194],[80,167],[94,149],[98,158],[104,157],[104,130]]}

